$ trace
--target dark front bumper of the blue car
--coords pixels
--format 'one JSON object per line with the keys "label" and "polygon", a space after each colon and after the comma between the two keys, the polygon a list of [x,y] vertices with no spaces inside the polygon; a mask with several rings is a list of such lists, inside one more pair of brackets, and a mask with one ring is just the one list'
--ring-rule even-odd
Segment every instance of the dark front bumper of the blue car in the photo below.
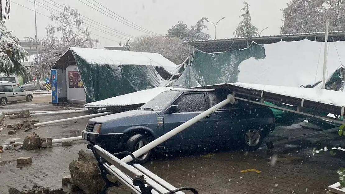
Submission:
{"label": "dark front bumper of the blue car", "polygon": [[120,151],[125,144],[125,134],[124,133],[93,133],[88,131],[82,131],[81,137],[84,140],[89,141],[93,145],[99,145],[103,149],[109,152]]}

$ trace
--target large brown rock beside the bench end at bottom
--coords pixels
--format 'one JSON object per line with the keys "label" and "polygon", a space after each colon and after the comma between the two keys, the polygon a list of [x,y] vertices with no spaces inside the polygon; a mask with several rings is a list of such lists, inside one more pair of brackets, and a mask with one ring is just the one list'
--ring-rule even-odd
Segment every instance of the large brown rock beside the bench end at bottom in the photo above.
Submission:
{"label": "large brown rock beside the bench end at bottom", "polygon": [[86,194],[99,193],[105,182],[100,175],[95,157],[83,150],[80,150],[78,155],[78,161],[73,160],[69,164],[73,184]]}

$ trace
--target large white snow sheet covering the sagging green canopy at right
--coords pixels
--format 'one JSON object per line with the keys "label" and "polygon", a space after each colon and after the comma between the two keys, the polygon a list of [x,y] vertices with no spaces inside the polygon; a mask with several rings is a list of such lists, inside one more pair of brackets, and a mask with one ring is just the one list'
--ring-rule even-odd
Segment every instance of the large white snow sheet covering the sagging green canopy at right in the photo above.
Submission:
{"label": "large white snow sheet covering the sagging green canopy at right", "polygon": [[[329,42],[328,47],[327,77],[345,61],[345,42]],[[324,42],[280,41],[264,48],[264,59],[252,57],[239,64],[239,82],[299,87],[322,80]]]}

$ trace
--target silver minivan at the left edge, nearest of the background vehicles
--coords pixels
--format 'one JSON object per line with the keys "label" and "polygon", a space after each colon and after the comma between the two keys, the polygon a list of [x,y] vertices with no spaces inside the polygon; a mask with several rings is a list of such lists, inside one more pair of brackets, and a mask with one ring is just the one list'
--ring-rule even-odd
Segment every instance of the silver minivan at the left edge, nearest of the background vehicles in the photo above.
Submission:
{"label": "silver minivan at the left edge, nearest of the background vehicles", "polygon": [[16,83],[0,82],[0,103],[2,106],[6,105],[8,102],[17,102],[22,100],[30,102],[32,99],[33,94],[20,88]]}

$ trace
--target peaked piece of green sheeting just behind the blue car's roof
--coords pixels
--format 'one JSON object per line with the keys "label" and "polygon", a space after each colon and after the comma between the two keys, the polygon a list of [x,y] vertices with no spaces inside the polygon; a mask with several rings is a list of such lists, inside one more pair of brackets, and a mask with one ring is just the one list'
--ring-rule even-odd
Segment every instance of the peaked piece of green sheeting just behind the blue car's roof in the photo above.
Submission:
{"label": "peaked piece of green sheeting just behind the blue car's roof", "polygon": [[185,71],[179,77],[179,79],[172,84],[172,88],[191,88],[200,86],[200,84],[196,81],[193,73],[193,69],[191,65],[187,65]]}

